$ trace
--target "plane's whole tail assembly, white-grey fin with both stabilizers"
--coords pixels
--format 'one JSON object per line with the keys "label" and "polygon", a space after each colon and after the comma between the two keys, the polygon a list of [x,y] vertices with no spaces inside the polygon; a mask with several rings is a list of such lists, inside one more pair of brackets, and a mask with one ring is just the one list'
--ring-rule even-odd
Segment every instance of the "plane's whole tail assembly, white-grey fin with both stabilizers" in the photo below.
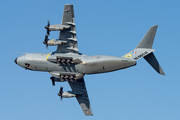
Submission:
{"label": "plane's whole tail assembly, white-grey fin with both stabilizers", "polygon": [[153,54],[155,50],[152,49],[157,27],[158,25],[152,26],[137,45],[137,47],[123,57],[135,61],[143,57],[159,74],[165,75]]}

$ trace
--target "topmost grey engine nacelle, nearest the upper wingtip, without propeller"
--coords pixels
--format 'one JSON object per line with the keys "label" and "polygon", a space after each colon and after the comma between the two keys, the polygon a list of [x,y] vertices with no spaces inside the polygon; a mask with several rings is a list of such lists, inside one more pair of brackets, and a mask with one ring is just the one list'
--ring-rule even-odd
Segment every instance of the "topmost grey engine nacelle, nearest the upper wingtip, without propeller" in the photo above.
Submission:
{"label": "topmost grey engine nacelle, nearest the upper wingtip, without propeller", "polygon": [[69,25],[54,24],[49,26],[50,31],[60,31],[70,28]]}

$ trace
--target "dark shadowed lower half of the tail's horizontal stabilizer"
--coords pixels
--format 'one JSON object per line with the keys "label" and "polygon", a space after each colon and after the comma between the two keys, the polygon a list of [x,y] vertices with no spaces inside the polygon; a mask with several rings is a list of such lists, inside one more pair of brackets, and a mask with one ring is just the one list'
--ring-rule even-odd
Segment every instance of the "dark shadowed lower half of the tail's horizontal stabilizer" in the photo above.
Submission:
{"label": "dark shadowed lower half of the tail's horizontal stabilizer", "polygon": [[145,56],[144,59],[161,75],[165,75],[164,71],[162,70],[160,64],[158,63],[156,57],[153,53]]}

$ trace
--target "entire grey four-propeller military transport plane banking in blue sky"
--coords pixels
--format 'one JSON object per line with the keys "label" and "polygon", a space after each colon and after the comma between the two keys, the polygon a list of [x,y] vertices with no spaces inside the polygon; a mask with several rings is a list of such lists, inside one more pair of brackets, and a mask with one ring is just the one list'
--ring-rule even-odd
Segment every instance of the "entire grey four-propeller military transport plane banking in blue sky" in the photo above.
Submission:
{"label": "entire grey four-propeller military transport plane banking in blue sky", "polygon": [[[60,87],[60,98],[76,97],[85,115],[93,115],[87,94],[84,75],[111,72],[136,65],[144,58],[158,73],[165,75],[152,49],[157,25],[152,26],[135,49],[122,57],[96,55],[88,56],[79,53],[73,5],[65,5],[61,24],[50,25],[48,21],[44,39],[46,46],[56,46],[52,53],[25,53],[15,59],[19,66],[33,71],[49,72],[52,85],[55,82],[67,81],[72,91],[63,91]],[[59,39],[48,39],[50,31],[60,31]]]}

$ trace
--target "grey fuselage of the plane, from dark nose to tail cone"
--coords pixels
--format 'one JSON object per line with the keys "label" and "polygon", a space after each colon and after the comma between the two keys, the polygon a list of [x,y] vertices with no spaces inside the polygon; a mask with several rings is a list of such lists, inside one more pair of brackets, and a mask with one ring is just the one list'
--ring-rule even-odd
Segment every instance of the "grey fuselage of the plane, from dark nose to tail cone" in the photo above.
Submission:
{"label": "grey fuselage of the plane, from dark nose to tail cone", "polygon": [[[47,60],[57,56],[78,58],[82,63],[67,65]],[[33,71],[46,71],[50,74],[51,72],[68,72],[83,75],[111,72],[136,65],[136,61],[128,58],[104,55],[87,56],[77,53],[26,53],[16,58],[15,62],[23,68],[27,68],[29,65],[28,69]]]}

